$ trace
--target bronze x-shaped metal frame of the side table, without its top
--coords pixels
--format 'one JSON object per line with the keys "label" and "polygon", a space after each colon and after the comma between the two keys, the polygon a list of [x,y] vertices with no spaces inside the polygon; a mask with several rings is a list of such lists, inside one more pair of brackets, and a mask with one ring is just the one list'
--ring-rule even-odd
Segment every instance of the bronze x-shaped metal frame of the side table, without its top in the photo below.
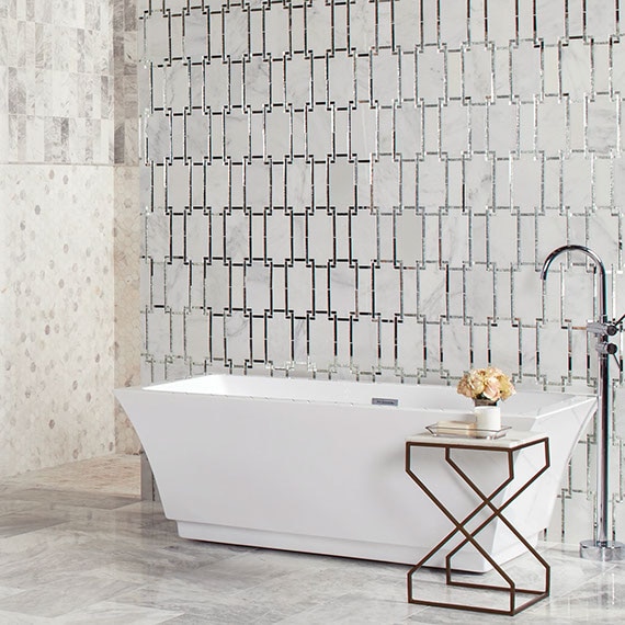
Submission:
{"label": "bronze x-shaped metal frame of the side table, without its top", "polygon": [[[471,445],[470,441],[466,439],[432,439],[428,436],[416,436],[410,439],[406,443],[406,473],[414,480],[414,482],[423,490],[423,492],[436,504],[436,507],[443,512],[443,514],[451,521],[454,529],[438,544],[435,545],[419,562],[417,562],[408,571],[408,601],[410,603],[416,603],[420,605],[438,606],[438,607],[452,607],[456,610],[470,610],[474,612],[486,612],[490,614],[505,614],[513,616],[522,610],[526,610],[531,605],[534,605],[538,601],[542,601],[549,595],[550,588],[550,568],[545,559],[536,552],[536,549],[520,534],[520,532],[510,523],[510,521],[503,515],[503,511],[510,503],[512,503],[522,492],[524,492],[536,479],[543,475],[549,467],[549,443],[546,436],[533,439],[529,442],[521,441],[518,445],[512,446],[500,446],[497,441],[492,444],[481,442],[479,445]],[[496,505],[493,499],[502,492],[505,487],[508,487],[514,480],[514,457],[521,450],[532,447],[535,445],[543,445],[544,451],[544,462],[541,466],[536,468],[534,474],[527,478],[526,481],[521,484],[514,492],[512,492],[501,504]],[[441,502],[441,500],[425,486],[425,484],[419,478],[419,476],[411,468],[411,451],[414,447],[439,447],[444,450],[445,462],[453,468],[453,470],[461,476],[463,481],[468,485],[468,487],[478,496],[480,503],[464,519],[456,519],[450,510]],[[482,490],[470,479],[467,474],[462,469],[462,467],[452,458],[453,450],[475,450],[481,453],[504,453],[508,455],[508,476],[499,484],[499,486],[490,493],[486,495]],[[482,510],[488,509],[490,514],[488,518],[479,523],[474,530],[468,530],[468,523],[475,519]],[[500,521],[503,523],[510,532],[520,541],[520,543],[525,547],[529,554],[531,554],[537,562],[544,569],[544,583],[542,588],[518,588],[514,580],[503,570],[503,568],[490,556],[486,549],[479,544],[477,535],[490,523]],[[445,579],[446,586],[450,587],[461,587],[461,588],[471,588],[481,589],[497,592],[505,592],[509,595],[508,609],[495,609],[495,607],[484,607],[479,605],[463,604],[463,603],[446,603],[442,601],[431,601],[425,599],[418,599],[414,596],[414,573],[425,566],[428,560],[434,556],[445,544],[447,544],[456,534],[462,534],[464,538],[461,543],[454,547],[445,557]],[[505,582],[504,586],[486,584],[486,583],[471,583],[468,581],[455,581],[452,577],[452,558],[466,545],[473,545],[477,552],[489,562],[501,579]],[[522,601],[522,595],[530,595]]]}

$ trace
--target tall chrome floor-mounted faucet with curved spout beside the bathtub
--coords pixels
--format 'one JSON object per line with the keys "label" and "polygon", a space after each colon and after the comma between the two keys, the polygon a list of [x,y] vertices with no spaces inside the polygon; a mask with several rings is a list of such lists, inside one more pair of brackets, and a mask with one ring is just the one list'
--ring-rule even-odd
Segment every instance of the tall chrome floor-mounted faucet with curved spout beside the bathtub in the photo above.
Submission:
{"label": "tall chrome floor-mounted faucet with curved spout beside the bathtub", "polygon": [[610,433],[612,430],[610,356],[613,355],[616,359],[616,351],[618,350],[614,343],[610,342],[610,338],[622,330],[621,323],[625,319],[625,315],[616,321],[607,318],[605,265],[595,252],[584,246],[562,246],[550,252],[543,264],[541,280],[543,282],[546,280],[547,271],[549,271],[549,266],[556,257],[564,252],[573,251],[588,255],[594,263],[595,272],[599,273],[599,320],[589,321],[586,326],[587,332],[596,337],[595,349],[599,354],[596,385],[599,404],[596,420],[596,522],[594,525],[594,538],[580,543],[580,556],[593,560],[620,560],[625,555],[625,545],[609,538]]}

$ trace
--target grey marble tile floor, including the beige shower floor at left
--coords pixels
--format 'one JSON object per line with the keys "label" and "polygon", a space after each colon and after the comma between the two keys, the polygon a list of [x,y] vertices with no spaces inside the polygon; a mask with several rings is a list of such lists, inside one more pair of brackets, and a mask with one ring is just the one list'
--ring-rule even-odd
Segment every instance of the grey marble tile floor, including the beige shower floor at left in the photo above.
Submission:
{"label": "grey marble tile floor, including the beige shower floor at left", "polygon": [[179,538],[138,492],[136,456],[0,480],[0,624],[625,622],[625,562],[576,545],[541,544],[552,595],[511,620],[407,603],[405,566]]}

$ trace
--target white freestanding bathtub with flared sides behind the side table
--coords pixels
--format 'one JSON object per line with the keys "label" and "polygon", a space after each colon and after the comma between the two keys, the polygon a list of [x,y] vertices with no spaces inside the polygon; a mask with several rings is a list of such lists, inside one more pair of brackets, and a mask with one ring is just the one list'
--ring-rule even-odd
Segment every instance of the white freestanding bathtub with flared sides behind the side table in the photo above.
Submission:
{"label": "white freestanding bathtub with flared sides behind the side table", "polygon": [[[414,564],[450,531],[406,474],[405,441],[438,421],[469,418],[470,401],[455,388],[207,375],[116,396],[182,537]],[[507,510],[527,539],[547,527],[595,407],[592,396],[547,393],[503,404],[504,425],[550,441],[549,470]],[[485,479],[507,470],[492,456],[474,453],[469,470]],[[520,471],[535,462],[522,459]],[[462,515],[475,496],[444,469],[433,456],[419,468]],[[522,549],[499,525],[480,542],[505,561]],[[454,567],[489,568],[470,549]]]}

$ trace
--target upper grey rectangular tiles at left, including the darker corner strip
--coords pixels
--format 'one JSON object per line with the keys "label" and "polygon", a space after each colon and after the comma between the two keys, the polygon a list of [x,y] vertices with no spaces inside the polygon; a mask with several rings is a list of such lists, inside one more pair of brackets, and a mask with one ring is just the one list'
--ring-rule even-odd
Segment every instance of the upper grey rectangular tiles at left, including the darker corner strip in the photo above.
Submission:
{"label": "upper grey rectangular tiles at left, including the darker corner strip", "polygon": [[3,162],[138,162],[135,0],[0,5]]}

